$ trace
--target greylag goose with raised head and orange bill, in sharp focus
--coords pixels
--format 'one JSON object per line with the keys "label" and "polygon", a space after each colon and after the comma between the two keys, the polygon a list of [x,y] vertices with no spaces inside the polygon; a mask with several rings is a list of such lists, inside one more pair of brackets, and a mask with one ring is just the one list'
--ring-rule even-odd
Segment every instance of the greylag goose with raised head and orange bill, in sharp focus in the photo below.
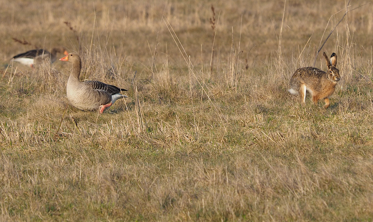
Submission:
{"label": "greylag goose with raised head and orange bill, in sharp focus", "polygon": [[100,81],[84,81],[79,80],[82,61],[78,54],[69,53],[67,56],[60,59],[72,63],[72,72],[66,85],[66,94],[71,105],[79,110],[97,110],[102,113],[105,108],[114,104],[117,99],[125,98],[119,87],[112,86]]}

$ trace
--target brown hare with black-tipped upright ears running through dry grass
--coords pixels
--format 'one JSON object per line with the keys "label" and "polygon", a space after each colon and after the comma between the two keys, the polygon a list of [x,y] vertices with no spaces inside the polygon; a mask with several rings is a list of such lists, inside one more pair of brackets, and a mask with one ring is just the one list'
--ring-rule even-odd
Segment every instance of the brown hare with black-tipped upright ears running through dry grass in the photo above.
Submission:
{"label": "brown hare with black-tipped upright ears running through dry grass", "polygon": [[339,70],[335,68],[337,65],[337,55],[334,52],[332,53],[330,56],[331,63],[325,52],[324,57],[327,72],[314,67],[303,67],[295,70],[290,79],[291,89],[288,91],[292,94],[299,93],[302,104],[305,104],[305,93],[308,91],[315,104],[320,99],[324,99],[324,108],[329,107],[329,96],[333,94],[335,85],[341,77],[339,76]]}

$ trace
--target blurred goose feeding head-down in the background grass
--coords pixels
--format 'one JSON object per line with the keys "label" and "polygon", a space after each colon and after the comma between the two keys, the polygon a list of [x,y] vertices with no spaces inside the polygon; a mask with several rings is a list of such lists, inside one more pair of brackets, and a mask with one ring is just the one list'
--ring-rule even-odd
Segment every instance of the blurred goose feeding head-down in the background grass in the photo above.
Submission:
{"label": "blurred goose feeding head-down in the background grass", "polygon": [[13,61],[19,62],[23,65],[29,65],[32,68],[34,68],[35,64],[40,64],[43,61],[46,61],[47,59],[50,59],[50,62],[53,63],[57,59],[57,52],[68,55],[68,52],[66,49],[62,46],[55,47],[51,50],[51,52],[48,52],[45,49],[33,49],[29,50],[24,53],[20,53],[13,57]]}

